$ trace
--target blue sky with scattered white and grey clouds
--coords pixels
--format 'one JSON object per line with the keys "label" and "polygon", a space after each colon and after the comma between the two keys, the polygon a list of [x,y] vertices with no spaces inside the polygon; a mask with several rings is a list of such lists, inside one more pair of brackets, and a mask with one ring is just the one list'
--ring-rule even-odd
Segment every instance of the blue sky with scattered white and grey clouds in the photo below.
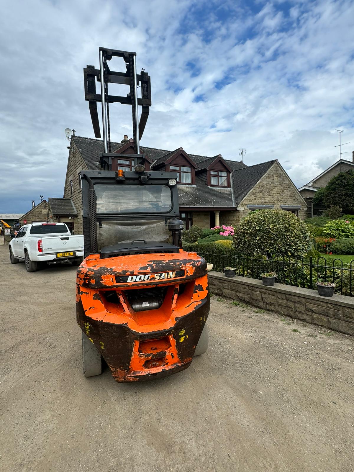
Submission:
{"label": "blue sky with scattered white and grey clouds", "polygon": [[[0,213],[62,196],[64,129],[93,137],[82,69],[99,46],[136,51],[151,75],[145,146],[234,160],[246,148],[246,164],[278,159],[300,186],[337,160],[337,128],[351,160],[353,18],[349,0],[7,2]],[[131,137],[129,108],[110,111],[112,140]]]}

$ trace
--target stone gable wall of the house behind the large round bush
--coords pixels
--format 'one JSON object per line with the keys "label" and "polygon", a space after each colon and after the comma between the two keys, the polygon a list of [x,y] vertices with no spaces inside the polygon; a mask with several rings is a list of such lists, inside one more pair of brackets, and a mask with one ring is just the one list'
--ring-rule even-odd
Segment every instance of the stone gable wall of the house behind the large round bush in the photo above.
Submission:
{"label": "stone gable wall of the house behind the large round bush", "polygon": [[280,205],[301,205],[299,218],[306,218],[307,204],[278,162],[239,203],[240,219],[249,214],[247,205],[274,205],[274,209]]}

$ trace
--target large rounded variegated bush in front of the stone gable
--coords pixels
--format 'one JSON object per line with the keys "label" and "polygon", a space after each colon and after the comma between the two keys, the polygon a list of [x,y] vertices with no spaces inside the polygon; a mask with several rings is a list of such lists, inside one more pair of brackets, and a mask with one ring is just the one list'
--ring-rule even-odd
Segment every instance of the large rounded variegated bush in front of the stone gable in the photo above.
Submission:
{"label": "large rounded variegated bush in front of the stone gable", "polygon": [[306,224],[290,211],[262,210],[244,218],[235,231],[239,254],[306,254],[311,248]]}

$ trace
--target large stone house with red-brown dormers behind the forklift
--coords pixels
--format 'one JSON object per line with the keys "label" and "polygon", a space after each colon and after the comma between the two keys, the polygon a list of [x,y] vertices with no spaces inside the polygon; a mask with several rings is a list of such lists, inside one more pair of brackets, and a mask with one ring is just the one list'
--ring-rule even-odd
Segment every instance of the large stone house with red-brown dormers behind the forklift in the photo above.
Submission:
{"label": "large stone house with red-brown dormers behind the forklift", "polygon": [[[126,154],[112,159],[111,170],[131,170],[134,160],[133,140],[127,136],[120,143],[111,143],[112,151]],[[76,234],[82,227],[81,170],[100,170],[103,143],[99,139],[72,136],[69,146],[64,198],[76,213],[71,215]],[[224,159],[189,154],[183,148],[174,151],[140,147],[146,155],[146,169],[177,172],[180,216],[185,227],[198,225],[237,225],[250,211],[281,208],[292,211],[299,218],[306,217],[306,202],[288,177],[278,160],[253,166]],[[58,199],[57,199],[58,200]],[[54,214],[53,214],[54,216]],[[64,215],[58,213],[56,218]]]}

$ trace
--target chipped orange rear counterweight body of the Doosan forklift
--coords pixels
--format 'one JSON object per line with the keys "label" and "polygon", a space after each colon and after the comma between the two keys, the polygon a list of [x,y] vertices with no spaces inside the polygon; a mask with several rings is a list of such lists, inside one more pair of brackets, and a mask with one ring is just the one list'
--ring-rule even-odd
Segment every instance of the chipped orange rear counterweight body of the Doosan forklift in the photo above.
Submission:
{"label": "chipped orange rear counterweight body of the Doosan forklift", "polygon": [[[148,274],[182,270],[183,276],[169,279],[123,283],[116,280],[116,277],[145,277]],[[179,293],[181,284],[184,285],[184,291]],[[152,287],[167,289],[160,308],[135,312],[129,303],[128,291]],[[105,298],[105,292],[111,293],[112,290],[116,292],[118,303],[109,302]],[[91,254],[77,270],[76,303],[77,322],[82,329],[84,321],[86,325],[91,325],[90,337],[96,347],[104,341],[101,354],[117,381],[169,375],[188,367],[192,361],[208,316],[206,263],[195,253],[183,250],[179,253],[139,254],[106,259],[100,259],[99,254]],[[120,360],[111,344],[118,343],[119,347],[121,340],[112,339],[107,334],[113,325],[126,329],[126,337],[131,339],[130,361],[125,363],[125,368],[115,365]],[[183,335],[179,334],[181,332]],[[106,336],[103,340],[100,338],[102,333]],[[110,355],[107,354],[109,350]],[[108,358],[105,357],[106,354]],[[123,351],[121,354],[124,357]]]}

